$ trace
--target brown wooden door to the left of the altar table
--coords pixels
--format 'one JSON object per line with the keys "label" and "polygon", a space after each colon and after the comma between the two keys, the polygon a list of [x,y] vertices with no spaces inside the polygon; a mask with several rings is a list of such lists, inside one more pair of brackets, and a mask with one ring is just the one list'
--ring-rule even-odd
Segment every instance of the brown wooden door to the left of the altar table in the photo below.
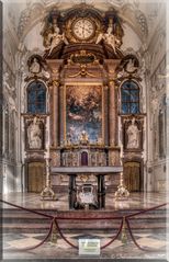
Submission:
{"label": "brown wooden door to the left of the altar table", "polygon": [[40,193],[45,186],[45,163],[30,162],[27,168],[27,191]]}

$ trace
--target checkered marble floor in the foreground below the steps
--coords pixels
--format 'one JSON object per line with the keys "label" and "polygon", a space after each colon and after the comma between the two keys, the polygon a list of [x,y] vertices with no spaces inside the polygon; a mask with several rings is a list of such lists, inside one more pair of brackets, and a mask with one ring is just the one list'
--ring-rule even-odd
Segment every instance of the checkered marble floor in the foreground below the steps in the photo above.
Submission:
{"label": "checkered marble floor in the foreground below the steps", "polygon": [[[29,248],[37,244],[43,237],[43,235],[38,233],[20,233],[18,236],[7,233],[3,237],[3,259],[32,259],[32,261],[34,261],[34,259],[45,259],[45,261],[47,261],[48,259],[56,258],[72,260],[80,258],[78,250],[71,248],[60,237],[58,237],[57,243],[48,240],[42,247],[34,250],[26,252],[16,251],[19,248]],[[78,242],[79,235],[71,233],[67,237],[72,243]],[[82,236],[80,236],[80,238]],[[87,238],[89,237],[90,236],[88,235]],[[94,236],[92,235],[91,237],[93,238]],[[99,235],[97,238],[101,240],[101,244],[104,244],[110,240],[111,236],[106,233],[105,239],[104,236]],[[164,235],[159,233],[157,236],[156,233],[136,233],[135,238],[139,244],[150,249],[151,251],[139,250],[131,239],[128,239],[126,243],[123,243],[121,239],[117,239],[112,244],[101,250],[99,259],[166,259],[167,243]],[[10,249],[12,249],[12,251],[10,251]]]}

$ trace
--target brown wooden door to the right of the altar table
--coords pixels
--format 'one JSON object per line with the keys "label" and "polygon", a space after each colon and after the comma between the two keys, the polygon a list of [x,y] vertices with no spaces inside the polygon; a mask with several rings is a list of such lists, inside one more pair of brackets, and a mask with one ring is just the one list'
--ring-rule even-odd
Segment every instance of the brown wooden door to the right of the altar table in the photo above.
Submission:
{"label": "brown wooden door to the right of the altar table", "polygon": [[125,162],[124,163],[124,182],[129,192],[140,191],[140,163]]}

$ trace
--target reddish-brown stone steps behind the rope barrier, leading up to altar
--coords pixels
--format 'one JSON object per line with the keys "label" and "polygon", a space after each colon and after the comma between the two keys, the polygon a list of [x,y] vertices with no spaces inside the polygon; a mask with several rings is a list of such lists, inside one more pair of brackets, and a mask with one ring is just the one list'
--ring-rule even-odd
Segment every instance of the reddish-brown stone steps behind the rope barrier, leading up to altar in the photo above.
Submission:
{"label": "reddish-brown stone steps behind the rope barrier, leading up to altar", "polygon": [[[43,210],[41,210],[43,212]],[[54,210],[45,210],[44,213],[53,214]],[[111,212],[91,212],[90,214],[83,210],[78,212],[59,212],[58,216],[68,218],[68,217],[110,217],[119,216],[120,214],[114,214]],[[155,214],[143,214],[137,217],[129,219],[132,229],[138,230],[166,230],[169,228],[166,221],[165,209],[156,210]],[[79,219],[58,219],[59,227],[64,230],[116,230],[120,227],[120,219],[111,220],[79,220]],[[3,231],[4,232],[46,232],[50,224],[49,218],[38,216],[36,214],[20,212],[16,209],[8,209],[3,212]]]}

